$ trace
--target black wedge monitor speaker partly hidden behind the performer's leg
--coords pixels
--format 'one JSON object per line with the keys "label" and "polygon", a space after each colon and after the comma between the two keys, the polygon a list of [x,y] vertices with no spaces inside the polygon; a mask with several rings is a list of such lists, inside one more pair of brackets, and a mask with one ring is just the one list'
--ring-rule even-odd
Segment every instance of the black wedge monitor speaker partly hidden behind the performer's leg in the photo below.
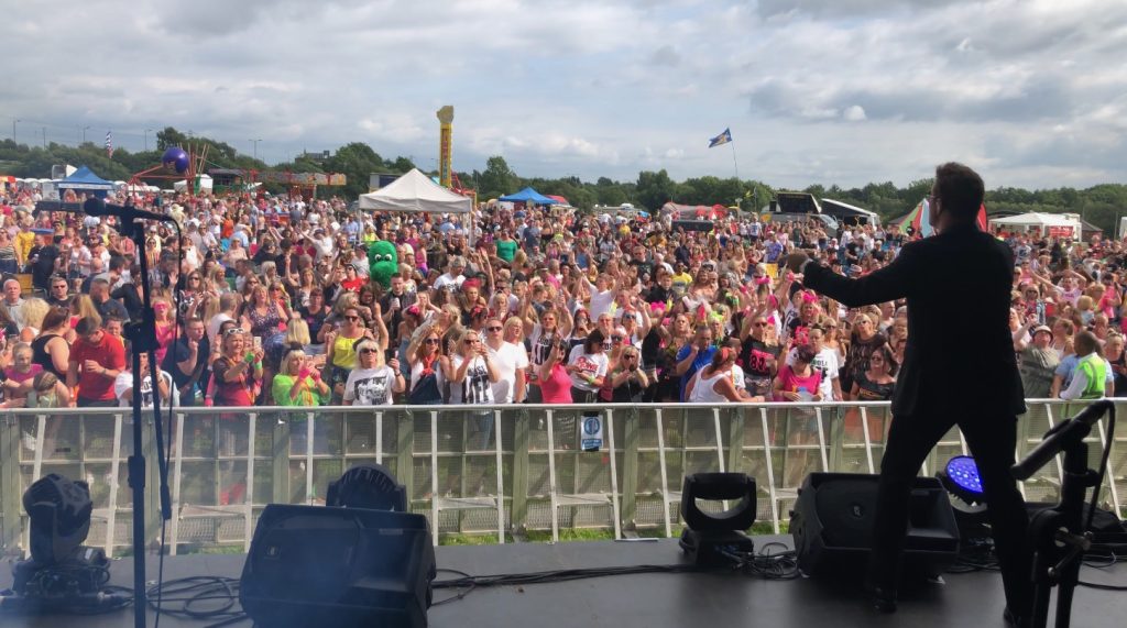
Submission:
{"label": "black wedge monitor speaker partly hidden behind the performer's leg", "polygon": [[[877,505],[876,475],[811,473],[790,513],[798,566],[811,576],[859,575],[868,566]],[[937,576],[959,554],[959,528],[947,491],[919,477],[908,501],[905,575]]]}

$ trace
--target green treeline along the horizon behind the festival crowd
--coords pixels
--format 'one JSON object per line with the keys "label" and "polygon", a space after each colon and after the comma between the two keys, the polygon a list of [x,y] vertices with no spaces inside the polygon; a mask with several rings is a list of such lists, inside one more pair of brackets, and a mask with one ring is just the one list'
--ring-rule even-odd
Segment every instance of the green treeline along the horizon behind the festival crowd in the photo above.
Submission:
{"label": "green treeline along the horizon behind the festival crowd", "polygon": [[[151,168],[160,162],[168,146],[208,146],[208,168],[241,168],[252,170],[289,170],[292,172],[339,172],[347,176],[348,185],[332,190],[347,198],[355,198],[367,191],[369,176],[375,172],[403,173],[415,168],[408,158],[384,159],[372,146],[353,142],[338,149],[335,154],[321,159],[319,155],[301,154],[292,162],[267,165],[261,160],[240,153],[230,144],[207,137],[188,137],[172,127],[166,127],[156,135],[152,151],[114,151],[110,159],[105,149],[87,142],[80,146],[51,143],[47,147],[17,144],[11,140],[0,142],[0,174],[15,177],[47,178],[53,164],[70,163],[88,165],[105,179],[128,180],[134,172]],[[435,174],[435,172],[431,172]],[[668,200],[685,205],[736,205],[744,210],[765,207],[777,191],[769,183],[736,179],[734,177],[694,177],[674,181],[665,170],[642,171],[636,181],[614,181],[600,177],[596,181],[583,181],[578,177],[558,179],[526,178],[515,172],[502,156],[491,156],[482,170],[458,172],[462,186],[478,190],[478,198],[487,200],[512,194],[525,186],[532,186],[541,194],[559,195],[571,205],[589,208],[594,205],[621,205],[630,203],[649,210],[659,208]],[[152,180],[168,187],[168,181]],[[869,183],[862,188],[824,187],[814,185],[808,191],[817,198],[833,198],[893,218],[911,210],[931,190],[931,179],[912,181],[906,187],[897,187],[891,181]],[[282,191],[278,187],[275,191]],[[1086,189],[1054,188],[1026,190],[1021,188],[997,188],[986,194],[990,213],[999,212],[1046,212],[1075,213],[1088,222],[1111,234],[1120,215],[1127,215],[1127,186],[1104,183]]]}

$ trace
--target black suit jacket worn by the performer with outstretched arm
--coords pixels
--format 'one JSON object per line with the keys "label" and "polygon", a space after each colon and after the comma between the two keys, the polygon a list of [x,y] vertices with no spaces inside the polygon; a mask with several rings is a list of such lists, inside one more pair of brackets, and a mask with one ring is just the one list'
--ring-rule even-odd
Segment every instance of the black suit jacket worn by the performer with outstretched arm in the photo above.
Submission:
{"label": "black suit jacket worn by the performer with outstretched arm", "polygon": [[1026,411],[1010,333],[1013,253],[975,225],[912,242],[859,279],[809,263],[804,282],[851,307],[907,298],[894,414],[951,412],[958,420]]}

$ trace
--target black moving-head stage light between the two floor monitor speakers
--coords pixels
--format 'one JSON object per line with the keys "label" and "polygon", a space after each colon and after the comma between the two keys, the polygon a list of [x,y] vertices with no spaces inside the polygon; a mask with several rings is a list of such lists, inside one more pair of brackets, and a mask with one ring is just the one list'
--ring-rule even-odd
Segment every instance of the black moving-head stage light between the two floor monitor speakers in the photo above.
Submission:
{"label": "black moving-head stage light between the two floor monitor speakers", "polygon": [[[739,500],[729,510],[706,512],[698,500]],[[755,523],[755,479],[742,473],[686,475],[681,493],[681,517],[685,530],[681,548],[698,565],[729,564],[735,555],[755,550],[744,533]]]}

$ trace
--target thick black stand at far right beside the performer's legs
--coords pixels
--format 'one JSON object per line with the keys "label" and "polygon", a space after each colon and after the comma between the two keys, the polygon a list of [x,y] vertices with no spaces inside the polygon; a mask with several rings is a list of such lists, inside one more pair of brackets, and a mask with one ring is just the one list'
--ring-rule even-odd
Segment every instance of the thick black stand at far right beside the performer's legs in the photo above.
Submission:
{"label": "thick black stand at far right beside the performer's legs", "polygon": [[[1015,479],[1028,479],[1053,455],[1064,452],[1061,501],[1033,515],[1026,537],[1029,549],[1033,553],[1031,628],[1045,628],[1048,625],[1054,586],[1058,587],[1054,626],[1068,628],[1072,619],[1072,599],[1080,581],[1080,567],[1084,553],[1092,547],[1092,536],[1084,530],[1084,496],[1089,488],[1098,486],[1100,482],[1099,474],[1088,468],[1088,445],[1083,439],[1092,431],[1092,423],[1110,406],[1108,403],[1097,407],[1102,403],[1104,402],[1092,404],[1090,407],[1097,412],[1082,413],[1084,419],[1068,419],[1049,430],[1041,446],[1011,468]],[[1026,610],[1029,609],[1022,609]]]}

